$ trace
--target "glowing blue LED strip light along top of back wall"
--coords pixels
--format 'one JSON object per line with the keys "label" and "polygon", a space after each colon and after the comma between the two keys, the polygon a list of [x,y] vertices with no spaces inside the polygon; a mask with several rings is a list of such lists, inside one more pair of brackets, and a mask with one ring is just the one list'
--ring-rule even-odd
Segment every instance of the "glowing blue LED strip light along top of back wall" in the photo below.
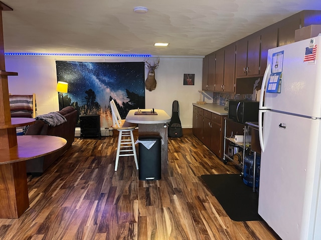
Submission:
{"label": "glowing blue LED strip light along top of back wall", "polygon": [[33,56],[125,56],[125,57],[151,57],[148,54],[100,54],[100,53],[34,53],[34,52],[7,52],[6,56],[33,55]]}

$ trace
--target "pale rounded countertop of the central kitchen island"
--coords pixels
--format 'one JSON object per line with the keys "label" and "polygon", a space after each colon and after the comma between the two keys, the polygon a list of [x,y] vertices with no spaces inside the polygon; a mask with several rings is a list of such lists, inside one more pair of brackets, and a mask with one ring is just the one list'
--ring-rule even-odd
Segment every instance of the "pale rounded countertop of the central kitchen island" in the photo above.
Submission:
{"label": "pale rounded countertop of the central kitchen island", "polygon": [[[151,109],[140,109],[141,111],[150,111]],[[157,115],[135,115],[137,109],[129,110],[126,121],[141,124],[156,124],[170,122],[171,117],[162,109],[154,109]]]}

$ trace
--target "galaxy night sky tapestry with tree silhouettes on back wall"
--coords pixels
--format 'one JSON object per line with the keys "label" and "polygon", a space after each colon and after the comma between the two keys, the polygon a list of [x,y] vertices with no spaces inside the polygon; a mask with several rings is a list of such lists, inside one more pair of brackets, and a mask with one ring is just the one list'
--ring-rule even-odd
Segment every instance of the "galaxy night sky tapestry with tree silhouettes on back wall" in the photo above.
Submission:
{"label": "galaxy night sky tapestry with tree silhouettes on back wall", "polygon": [[144,62],[56,61],[56,68],[57,81],[68,83],[59,109],[72,105],[78,115],[99,114],[101,126],[109,127],[111,99],[122,119],[130,109],[145,108]]}

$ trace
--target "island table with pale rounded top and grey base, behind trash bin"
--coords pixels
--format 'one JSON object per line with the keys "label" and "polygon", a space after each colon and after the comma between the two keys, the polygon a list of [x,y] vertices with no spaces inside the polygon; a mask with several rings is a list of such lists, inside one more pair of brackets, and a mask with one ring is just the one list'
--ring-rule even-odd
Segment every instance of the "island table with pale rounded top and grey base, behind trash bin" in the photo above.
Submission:
{"label": "island table with pale rounded top and grey base, behind trash bin", "polygon": [[[139,136],[160,136],[162,173],[168,172],[168,123],[171,117],[162,109],[132,109],[126,116],[126,121],[138,124]],[[139,153],[138,153],[139,154]]]}

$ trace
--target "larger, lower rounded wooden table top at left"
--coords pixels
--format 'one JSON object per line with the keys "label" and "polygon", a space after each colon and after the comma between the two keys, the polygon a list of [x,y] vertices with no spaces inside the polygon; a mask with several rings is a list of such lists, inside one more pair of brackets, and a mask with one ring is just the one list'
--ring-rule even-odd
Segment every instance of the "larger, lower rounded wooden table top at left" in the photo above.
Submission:
{"label": "larger, lower rounded wooden table top at left", "polygon": [[67,140],[58,136],[22,135],[17,136],[18,145],[0,149],[0,164],[25,161],[47,155],[63,147]]}

